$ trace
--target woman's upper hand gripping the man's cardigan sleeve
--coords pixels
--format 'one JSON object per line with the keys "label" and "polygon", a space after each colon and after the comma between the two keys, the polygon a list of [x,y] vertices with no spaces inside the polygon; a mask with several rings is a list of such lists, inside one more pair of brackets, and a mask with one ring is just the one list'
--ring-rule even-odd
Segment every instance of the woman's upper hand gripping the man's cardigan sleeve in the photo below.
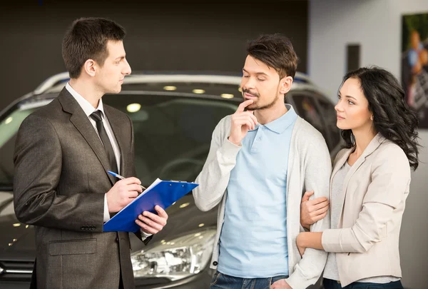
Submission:
{"label": "woman's upper hand gripping the man's cardigan sleeve", "polygon": [[300,223],[303,228],[310,229],[310,225],[327,215],[329,201],[325,197],[310,200],[314,191],[306,192],[300,203]]}

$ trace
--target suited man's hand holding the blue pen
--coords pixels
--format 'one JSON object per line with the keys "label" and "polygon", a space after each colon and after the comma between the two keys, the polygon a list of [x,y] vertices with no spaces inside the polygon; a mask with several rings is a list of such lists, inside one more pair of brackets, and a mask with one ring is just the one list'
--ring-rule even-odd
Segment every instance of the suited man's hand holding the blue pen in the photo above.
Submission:
{"label": "suited man's hand holding the blue pen", "polygon": [[116,213],[131,203],[138,193],[143,191],[138,178],[124,178],[117,181],[113,188],[107,192],[108,213]]}

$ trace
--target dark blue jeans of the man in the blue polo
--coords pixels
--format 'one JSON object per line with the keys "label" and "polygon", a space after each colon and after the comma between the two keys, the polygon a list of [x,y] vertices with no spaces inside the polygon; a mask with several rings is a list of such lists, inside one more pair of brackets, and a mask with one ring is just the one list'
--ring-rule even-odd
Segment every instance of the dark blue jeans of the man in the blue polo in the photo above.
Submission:
{"label": "dark blue jeans of the man in the blue polo", "polygon": [[274,276],[270,278],[238,278],[215,272],[211,280],[210,289],[269,289],[270,285],[277,280],[288,278],[285,275]]}

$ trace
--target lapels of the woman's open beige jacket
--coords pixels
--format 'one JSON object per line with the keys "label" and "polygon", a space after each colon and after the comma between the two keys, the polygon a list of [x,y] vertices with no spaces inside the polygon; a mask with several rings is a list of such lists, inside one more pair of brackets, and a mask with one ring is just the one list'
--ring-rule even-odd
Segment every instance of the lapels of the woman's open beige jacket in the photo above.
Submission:
{"label": "lapels of the woman's open beige jacket", "polygon": [[[355,161],[355,163],[351,166],[350,171],[347,172],[347,174],[345,176],[345,180],[343,181],[342,194],[340,195],[340,200],[339,200],[342,202],[342,208],[340,209],[340,215],[339,215],[340,216],[340,223],[342,223],[342,213],[343,213],[343,208],[345,206],[346,191],[347,191],[347,186],[350,182],[351,177],[358,170],[358,168],[360,168],[360,166],[362,166],[362,164],[365,162],[367,156],[370,156],[376,150],[376,148],[378,146],[380,146],[380,144],[384,140],[385,140],[385,138],[380,133],[377,133],[377,135],[374,136],[372,141],[370,141],[367,148],[365,148],[365,151],[362,152],[362,155],[360,156],[360,158],[358,158],[357,161]],[[339,171],[340,168],[342,168],[343,164],[345,163],[345,161],[347,161],[347,159],[350,156],[350,153],[352,151],[353,151],[353,148],[350,148],[349,151],[347,151],[345,153],[345,155],[342,158],[340,158],[340,161],[338,161],[336,166],[335,166],[335,173],[337,171]],[[330,183],[330,188],[331,188],[331,185],[332,185],[332,183]]]}

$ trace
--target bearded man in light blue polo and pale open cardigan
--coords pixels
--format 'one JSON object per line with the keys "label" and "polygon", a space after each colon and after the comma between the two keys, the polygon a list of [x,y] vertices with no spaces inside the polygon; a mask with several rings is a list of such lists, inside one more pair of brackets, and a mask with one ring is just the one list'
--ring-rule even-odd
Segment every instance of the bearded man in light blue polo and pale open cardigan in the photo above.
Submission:
{"label": "bearded man in light blue polo and pale open cardigan", "polygon": [[[193,196],[208,211],[220,203],[212,289],[304,289],[320,277],[325,252],[297,250],[305,191],[328,196],[331,161],[324,138],[284,103],[297,69],[292,44],[279,34],[248,46],[243,103],[213,132]],[[312,225],[329,228],[330,218]]]}

